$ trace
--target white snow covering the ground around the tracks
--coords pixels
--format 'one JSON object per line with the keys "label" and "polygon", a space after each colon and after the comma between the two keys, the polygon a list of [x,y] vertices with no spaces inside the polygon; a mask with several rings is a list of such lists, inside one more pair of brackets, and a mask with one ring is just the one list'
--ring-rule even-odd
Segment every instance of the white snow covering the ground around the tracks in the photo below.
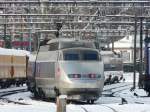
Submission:
{"label": "white snow covering the ground around the tracks", "polygon": [[[127,74],[126,76],[132,78],[132,74]],[[127,77],[127,79],[130,78]],[[127,82],[132,81],[127,79]],[[142,89],[137,88],[135,91],[128,89],[117,92],[114,96],[102,96],[93,105],[68,104],[67,112],[150,112],[150,98],[145,97],[146,92]],[[8,103],[0,99],[0,112],[56,112],[54,102],[32,99],[30,92],[18,93],[5,98],[27,105]],[[122,104],[122,98],[125,98],[127,104]]]}

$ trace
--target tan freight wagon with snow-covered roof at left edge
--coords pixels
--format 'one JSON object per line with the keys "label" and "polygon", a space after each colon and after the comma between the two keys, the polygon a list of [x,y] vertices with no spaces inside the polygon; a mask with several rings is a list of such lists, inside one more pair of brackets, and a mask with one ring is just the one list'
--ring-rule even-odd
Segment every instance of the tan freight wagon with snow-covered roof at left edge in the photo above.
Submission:
{"label": "tan freight wagon with snow-covered roof at left edge", "polygon": [[0,87],[26,83],[28,56],[25,50],[0,48]]}

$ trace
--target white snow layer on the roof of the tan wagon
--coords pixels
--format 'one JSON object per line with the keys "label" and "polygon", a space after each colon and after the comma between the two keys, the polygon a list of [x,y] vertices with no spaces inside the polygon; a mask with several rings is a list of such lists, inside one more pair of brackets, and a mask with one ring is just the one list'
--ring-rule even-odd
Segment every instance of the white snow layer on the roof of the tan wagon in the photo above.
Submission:
{"label": "white snow layer on the roof of the tan wagon", "polygon": [[0,55],[29,56],[30,52],[26,50],[0,48]]}

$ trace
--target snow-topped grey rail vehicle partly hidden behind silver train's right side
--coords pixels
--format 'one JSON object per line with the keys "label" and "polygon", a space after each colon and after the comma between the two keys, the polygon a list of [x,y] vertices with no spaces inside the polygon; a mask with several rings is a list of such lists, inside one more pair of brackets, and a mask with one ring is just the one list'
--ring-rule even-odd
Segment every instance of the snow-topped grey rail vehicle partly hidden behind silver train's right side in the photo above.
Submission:
{"label": "snow-topped grey rail vehicle partly hidden behind silver train's right side", "polygon": [[101,50],[102,60],[104,62],[105,85],[118,83],[123,80],[123,60],[113,51]]}

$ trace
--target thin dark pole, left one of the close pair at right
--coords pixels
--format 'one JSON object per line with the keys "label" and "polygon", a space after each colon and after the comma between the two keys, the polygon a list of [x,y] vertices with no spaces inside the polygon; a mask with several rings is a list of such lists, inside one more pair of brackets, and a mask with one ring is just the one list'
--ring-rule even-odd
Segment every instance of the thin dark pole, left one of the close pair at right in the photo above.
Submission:
{"label": "thin dark pole, left one of the close pair at right", "polygon": [[135,15],[135,25],[134,25],[134,74],[133,74],[133,89],[136,86],[136,39],[137,39],[137,17]]}

